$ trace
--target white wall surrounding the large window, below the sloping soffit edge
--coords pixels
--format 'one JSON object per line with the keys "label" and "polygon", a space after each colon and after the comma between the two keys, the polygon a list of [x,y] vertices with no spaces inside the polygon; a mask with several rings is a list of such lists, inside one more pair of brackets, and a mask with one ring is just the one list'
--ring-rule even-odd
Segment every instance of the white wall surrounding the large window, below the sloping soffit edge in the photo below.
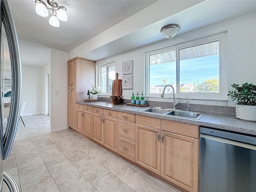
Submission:
{"label": "white wall surrounding the large window, below the sloping soffit edge", "polygon": [[[122,74],[122,62],[134,60],[133,90],[144,90],[144,74],[142,71],[144,71],[145,52],[227,31],[228,88],[230,88],[230,85],[233,83],[241,84],[249,82],[256,84],[255,23],[256,12],[96,61],[96,66],[114,61],[116,63],[116,72]],[[246,28],[243,26],[246,26]],[[130,99],[131,92],[132,90],[123,90],[122,94],[124,95],[124,98]],[[168,101],[168,99],[162,98],[155,98],[152,100]],[[197,103],[234,106],[234,102],[231,102],[230,97],[228,97],[228,102],[202,101],[202,103],[200,103],[197,101]]]}

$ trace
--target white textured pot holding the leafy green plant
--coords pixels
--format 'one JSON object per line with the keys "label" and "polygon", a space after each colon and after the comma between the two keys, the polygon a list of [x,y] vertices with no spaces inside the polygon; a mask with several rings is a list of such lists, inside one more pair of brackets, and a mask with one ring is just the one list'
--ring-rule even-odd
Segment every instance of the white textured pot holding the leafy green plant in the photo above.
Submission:
{"label": "white textured pot holding the leafy green plant", "polygon": [[236,104],[236,118],[256,121],[256,106]]}

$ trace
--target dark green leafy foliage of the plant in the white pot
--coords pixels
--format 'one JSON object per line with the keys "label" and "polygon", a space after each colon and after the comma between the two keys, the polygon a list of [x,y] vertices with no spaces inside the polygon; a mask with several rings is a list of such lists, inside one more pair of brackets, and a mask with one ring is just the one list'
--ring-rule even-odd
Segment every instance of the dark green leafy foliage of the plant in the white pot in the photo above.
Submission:
{"label": "dark green leafy foliage of the plant in the white pot", "polygon": [[228,92],[228,96],[232,101],[236,100],[236,104],[256,106],[256,85],[248,84],[247,82],[239,86],[232,84],[232,90]]}

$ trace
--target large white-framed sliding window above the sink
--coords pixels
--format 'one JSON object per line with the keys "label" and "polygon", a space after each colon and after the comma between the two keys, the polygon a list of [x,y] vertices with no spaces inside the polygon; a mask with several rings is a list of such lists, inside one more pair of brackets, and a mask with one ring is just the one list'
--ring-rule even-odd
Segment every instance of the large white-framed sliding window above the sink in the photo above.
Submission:
{"label": "large white-framed sliding window above the sink", "polygon": [[171,84],[180,98],[226,100],[226,34],[214,37],[149,52],[146,96],[158,97]]}

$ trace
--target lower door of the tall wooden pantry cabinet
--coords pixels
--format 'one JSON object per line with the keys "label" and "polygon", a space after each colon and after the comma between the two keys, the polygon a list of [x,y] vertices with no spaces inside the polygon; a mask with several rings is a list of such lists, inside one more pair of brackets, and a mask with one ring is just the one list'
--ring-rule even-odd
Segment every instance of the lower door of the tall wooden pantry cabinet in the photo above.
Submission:
{"label": "lower door of the tall wooden pantry cabinet", "polygon": [[76,87],[68,88],[68,126],[76,128]]}

